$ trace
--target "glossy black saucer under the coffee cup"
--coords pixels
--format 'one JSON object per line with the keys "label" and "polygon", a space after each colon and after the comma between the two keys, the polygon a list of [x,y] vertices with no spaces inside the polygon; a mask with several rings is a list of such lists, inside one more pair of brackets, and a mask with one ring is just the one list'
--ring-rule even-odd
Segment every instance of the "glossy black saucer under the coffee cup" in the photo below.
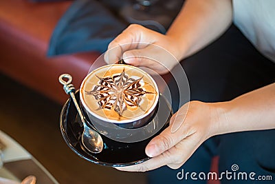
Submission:
{"label": "glossy black saucer under the coffee cup", "polygon": [[[79,101],[79,92],[76,92],[76,99]],[[159,102],[162,102],[162,105],[159,106],[159,109],[162,110],[161,112],[167,112],[167,114],[157,113],[158,121],[166,121],[161,122],[164,124],[164,126],[161,130],[159,130],[159,132],[157,132],[157,134],[168,127],[169,119],[172,115],[170,105],[164,96],[159,96]],[[164,118],[167,116],[169,117],[168,120],[167,118]],[[76,112],[76,108],[73,102],[69,99],[61,111],[61,133],[67,145],[83,159],[99,165],[113,167],[133,165],[149,159],[149,157],[146,156],[144,150],[149,141],[151,141],[151,139],[157,134],[153,135],[149,139],[136,143],[122,143],[102,135],[104,149],[99,154],[92,154],[91,152],[85,150],[85,148],[80,143],[83,127],[80,127],[78,122],[80,122],[80,120]]]}

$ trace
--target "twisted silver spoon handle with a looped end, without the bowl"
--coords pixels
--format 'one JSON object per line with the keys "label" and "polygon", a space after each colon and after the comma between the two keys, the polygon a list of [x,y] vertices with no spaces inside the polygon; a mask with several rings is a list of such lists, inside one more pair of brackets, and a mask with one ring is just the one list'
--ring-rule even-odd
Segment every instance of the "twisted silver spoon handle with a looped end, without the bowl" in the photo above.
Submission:
{"label": "twisted silver spoon handle with a looped end, without the bowl", "polygon": [[63,85],[64,91],[66,92],[66,94],[69,94],[69,96],[72,97],[72,100],[74,102],[74,105],[76,106],[78,115],[80,116],[81,122],[85,123],[84,116],[79,108],[78,102],[76,101],[76,96],[74,95],[74,92],[76,91],[76,89],[72,84],[72,80],[73,78],[70,74],[61,74],[61,76],[59,76],[59,82]]}

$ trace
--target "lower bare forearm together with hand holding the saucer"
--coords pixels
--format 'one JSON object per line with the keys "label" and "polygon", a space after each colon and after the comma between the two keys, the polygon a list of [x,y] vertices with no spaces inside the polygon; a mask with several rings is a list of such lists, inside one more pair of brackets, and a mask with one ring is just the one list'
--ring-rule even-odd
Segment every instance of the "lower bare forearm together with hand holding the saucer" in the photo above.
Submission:
{"label": "lower bare forearm together with hand holding the saucer", "polygon": [[152,159],[137,165],[118,167],[118,170],[144,172],[163,165],[177,169],[211,136],[274,129],[275,83],[232,101],[191,101],[173,115],[170,123],[146,146],[145,152]]}

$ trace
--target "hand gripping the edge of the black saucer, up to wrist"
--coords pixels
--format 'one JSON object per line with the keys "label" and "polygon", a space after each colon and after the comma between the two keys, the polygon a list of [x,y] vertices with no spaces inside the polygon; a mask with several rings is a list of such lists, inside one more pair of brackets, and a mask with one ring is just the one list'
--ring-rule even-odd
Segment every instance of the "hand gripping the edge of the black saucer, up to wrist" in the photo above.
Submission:
{"label": "hand gripping the edge of the black saucer, up to wrist", "polygon": [[201,143],[216,134],[220,121],[218,112],[216,103],[186,103],[172,116],[170,126],[146,146],[145,152],[151,159],[137,165],[115,168],[145,172],[163,165],[173,169],[181,167]]}

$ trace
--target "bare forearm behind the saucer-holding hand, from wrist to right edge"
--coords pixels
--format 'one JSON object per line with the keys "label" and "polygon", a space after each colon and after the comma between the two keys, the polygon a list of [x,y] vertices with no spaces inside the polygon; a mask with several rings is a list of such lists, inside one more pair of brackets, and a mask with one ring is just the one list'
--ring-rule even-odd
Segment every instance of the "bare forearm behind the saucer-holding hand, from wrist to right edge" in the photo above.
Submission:
{"label": "bare forearm behind the saucer-holding hand, from wrist to right edge", "polygon": [[275,83],[217,103],[216,109],[221,121],[213,134],[275,128]]}

